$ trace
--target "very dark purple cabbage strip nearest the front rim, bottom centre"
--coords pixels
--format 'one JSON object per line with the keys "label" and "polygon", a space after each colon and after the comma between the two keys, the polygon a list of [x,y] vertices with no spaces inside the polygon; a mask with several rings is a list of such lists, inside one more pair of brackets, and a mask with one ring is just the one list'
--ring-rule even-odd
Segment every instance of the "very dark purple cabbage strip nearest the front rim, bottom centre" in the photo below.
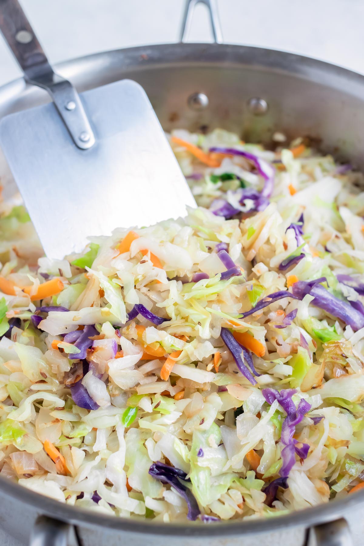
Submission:
{"label": "very dark purple cabbage strip nearest the front rim, bottom centre", "polygon": [[[153,478],[159,479],[162,483],[169,483],[187,502],[188,513],[187,518],[195,521],[200,515],[200,508],[192,494],[192,491],[184,485],[183,482],[190,482],[186,472],[180,468],[174,468],[163,464],[163,462],[154,462],[149,469],[149,473]],[[181,481],[183,480],[183,481]]]}

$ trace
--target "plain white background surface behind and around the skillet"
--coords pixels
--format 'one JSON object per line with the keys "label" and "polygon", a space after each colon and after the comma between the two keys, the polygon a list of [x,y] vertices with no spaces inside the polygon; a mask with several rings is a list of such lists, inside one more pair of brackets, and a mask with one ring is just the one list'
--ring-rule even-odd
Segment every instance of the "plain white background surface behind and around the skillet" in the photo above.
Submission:
{"label": "plain white background surface behind and around the skillet", "polygon": [[[51,63],[177,41],[184,0],[20,0]],[[364,0],[217,0],[224,41],[293,51],[364,73]],[[210,41],[205,7],[190,41]],[[0,85],[20,75],[0,38]],[[30,530],[29,530],[30,531]],[[20,546],[0,529],[1,546]]]}

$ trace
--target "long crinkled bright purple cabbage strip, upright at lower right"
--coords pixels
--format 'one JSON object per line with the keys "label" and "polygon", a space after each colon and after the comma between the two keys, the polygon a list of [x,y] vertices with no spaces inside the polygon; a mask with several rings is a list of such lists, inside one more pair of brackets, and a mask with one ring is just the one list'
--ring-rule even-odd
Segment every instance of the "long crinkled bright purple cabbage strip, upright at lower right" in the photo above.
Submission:
{"label": "long crinkled bright purple cabbage strip, upright at lower right", "polygon": [[296,453],[301,459],[306,459],[309,449],[307,444],[302,444],[302,447],[298,448],[293,435],[295,434],[296,425],[301,423],[305,414],[311,410],[311,404],[302,398],[296,408],[292,399],[294,394],[296,394],[296,389],[282,389],[280,392],[270,388],[262,389],[262,395],[265,397],[268,404],[272,405],[272,403],[277,400],[279,405],[287,413],[287,417],[282,424],[281,433],[281,442],[284,445],[284,448],[281,452],[283,464],[279,473],[283,478],[288,477],[291,468],[295,464]]}

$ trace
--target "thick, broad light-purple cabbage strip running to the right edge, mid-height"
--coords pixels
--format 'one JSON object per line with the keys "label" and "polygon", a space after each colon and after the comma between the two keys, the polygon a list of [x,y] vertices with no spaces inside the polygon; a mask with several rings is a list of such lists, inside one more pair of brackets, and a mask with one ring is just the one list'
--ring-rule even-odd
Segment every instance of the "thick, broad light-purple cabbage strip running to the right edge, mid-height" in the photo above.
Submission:
{"label": "thick, broad light-purple cabbage strip running to the right edge, mid-height", "polygon": [[349,324],[354,331],[364,327],[364,307],[360,301],[343,301],[333,296],[320,282],[326,281],[321,277],[315,281],[298,281],[293,284],[293,294],[303,299],[306,294],[314,296],[311,301],[326,313],[339,318],[344,324]]}

